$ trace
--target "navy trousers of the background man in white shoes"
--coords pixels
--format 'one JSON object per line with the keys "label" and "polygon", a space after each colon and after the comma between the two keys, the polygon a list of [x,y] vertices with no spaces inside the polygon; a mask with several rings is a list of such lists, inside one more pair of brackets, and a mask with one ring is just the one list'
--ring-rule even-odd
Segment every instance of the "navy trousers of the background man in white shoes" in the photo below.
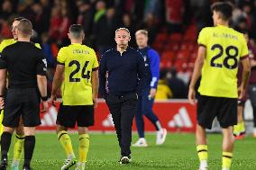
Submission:
{"label": "navy trousers of the background man in white shoes", "polygon": [[135,121],[140,138],[145,137],[143,115],[151,121],[156,130],[159,130],[156,124],[159,119],[157,115],[152,111],[154,99],[149,98],[150,90],[151,89],[144,90],[142,95],[139,96],[138,112],[135,116]]}

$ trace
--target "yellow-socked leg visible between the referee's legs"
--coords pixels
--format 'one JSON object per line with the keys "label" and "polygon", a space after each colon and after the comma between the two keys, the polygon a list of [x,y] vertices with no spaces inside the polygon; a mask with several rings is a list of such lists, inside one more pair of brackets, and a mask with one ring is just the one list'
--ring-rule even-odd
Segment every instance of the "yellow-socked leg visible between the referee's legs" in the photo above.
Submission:
{"label": "yellow-socked leg visible between the referee's legs", "polygon": [[19,169],[20,158],[23,152],[24,146],[24,130],[23,130],[23,120],[20,119],[19,126],[15,128],[16,135],[14,139],[14,158],[12,162],[12,170]]}

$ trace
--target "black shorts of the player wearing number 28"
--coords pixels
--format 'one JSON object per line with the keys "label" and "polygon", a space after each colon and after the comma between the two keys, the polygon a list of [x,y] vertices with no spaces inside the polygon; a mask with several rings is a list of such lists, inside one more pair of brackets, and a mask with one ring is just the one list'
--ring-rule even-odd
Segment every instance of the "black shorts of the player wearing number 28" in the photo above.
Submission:
{"label": "black shorts of the player wearing number 28", "polygon": [[197,123],[211,129],[217,117],[222,128],[237,124],[237,99],[199,95],[197,103]]}

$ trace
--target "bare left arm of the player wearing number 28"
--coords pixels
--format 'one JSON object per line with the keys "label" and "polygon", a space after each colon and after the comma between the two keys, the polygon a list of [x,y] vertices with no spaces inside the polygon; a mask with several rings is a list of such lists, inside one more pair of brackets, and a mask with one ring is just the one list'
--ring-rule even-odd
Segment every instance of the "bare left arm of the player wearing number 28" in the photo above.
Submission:
{"label": "bare left arm of the player wearing number 28", "polygon": [[199,45],[198,52],[197,52],[197,59],[195,62],[195,67],[194,67],[193,75],[189,85],[189,91],[188,91],[188,97],[187,97],[190,103],[195,103],[195,100],[196,100],[195,85],[197,84],[197,80],[199,76],[201,76],[201,71],[202,71],[202,67],[204,66],[205,58],[206,58],[206,47]]}

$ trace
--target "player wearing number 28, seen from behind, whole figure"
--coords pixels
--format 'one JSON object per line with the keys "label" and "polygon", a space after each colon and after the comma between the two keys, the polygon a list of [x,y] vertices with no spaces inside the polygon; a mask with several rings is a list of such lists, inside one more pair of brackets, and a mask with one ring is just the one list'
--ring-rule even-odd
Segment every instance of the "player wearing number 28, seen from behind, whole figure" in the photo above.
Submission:
{"label": "player wearing number 28, seen from behind, whole figure", "polygon": [[[232,5],[215,3],[212,6],[215,27],[204,28],[198,37],[198,53],[189,85],[188,99],[195,102],[195,85],[201,75],[197,103],[197,155],[200,170],[207,167],[206,129],[211,129],[217,117],[223,129],[223,170],[229,170],[233,157],[233,125],[237,123],[237,98],[242,98],[250,63],[248,48],[242,33],[229,28]],[[242,61],[242,85],[237,88],[237,69]]]}

